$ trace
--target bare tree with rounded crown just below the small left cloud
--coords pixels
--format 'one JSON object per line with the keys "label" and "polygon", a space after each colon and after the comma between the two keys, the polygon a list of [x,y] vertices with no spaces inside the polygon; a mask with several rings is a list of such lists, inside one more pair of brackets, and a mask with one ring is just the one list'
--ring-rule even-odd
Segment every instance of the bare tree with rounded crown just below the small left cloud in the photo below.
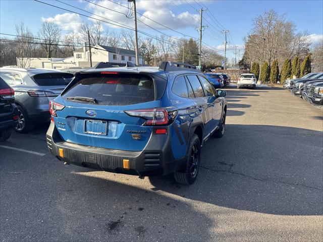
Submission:
{"label": "bare tree with rounded crown just below the small left cloud", "polygon": [[51,21],[44,21],[42,23],[41,29],[38,32],[39,38],[41,38],[41,46],[46,52],[46,57],[51,58],[52,52],[57,53],[58,46],[57,44],[60,41],[61,30],[57,24]]}

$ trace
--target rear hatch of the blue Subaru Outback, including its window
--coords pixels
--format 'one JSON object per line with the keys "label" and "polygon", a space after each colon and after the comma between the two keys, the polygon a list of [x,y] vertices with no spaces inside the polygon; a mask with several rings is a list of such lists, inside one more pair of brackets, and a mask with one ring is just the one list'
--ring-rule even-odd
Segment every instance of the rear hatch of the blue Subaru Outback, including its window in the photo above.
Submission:
{"label": "rear hatch of the blue Subaru Outback, including its window", "polygon": [[63,140],[128,151],[143,150],[152,127],[124,111],[160,106],[151,76],[116,72],[80,73],[55,102],[65,106],[55,117]]}

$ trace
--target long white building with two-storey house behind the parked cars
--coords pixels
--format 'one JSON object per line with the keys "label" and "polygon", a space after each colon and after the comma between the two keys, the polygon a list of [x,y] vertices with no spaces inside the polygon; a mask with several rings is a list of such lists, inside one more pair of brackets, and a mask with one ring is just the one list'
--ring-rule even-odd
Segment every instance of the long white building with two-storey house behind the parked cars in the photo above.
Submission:
{"label": "long white building with two-storey house behind the parked cars", "polygon": [[[134,50],[95,45],[91,47],[92,67],[100,62],[126,63],[136,65]],[[139,65],[142,65],[142,55],[139,56]],[[23,65],[22,65],[23,64]],[[17,67],[24,68],[52,68],[65,69],[71,67],[90,67],[90,51],[88,47],[81,47],[74,51],[73,56],[67,58],[18,58]]]}

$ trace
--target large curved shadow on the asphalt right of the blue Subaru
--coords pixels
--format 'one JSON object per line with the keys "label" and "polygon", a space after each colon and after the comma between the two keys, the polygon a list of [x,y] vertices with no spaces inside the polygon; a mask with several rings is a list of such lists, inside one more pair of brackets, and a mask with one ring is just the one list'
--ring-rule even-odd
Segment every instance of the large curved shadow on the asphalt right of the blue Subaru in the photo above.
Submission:
{"label": "large curved shadow on the asphalt right of the blue Subaru", "polygon": [[202,147],[193,186],[149,177],[155,190],[218,206],[278,215],[322,215],[322,133],[227,125],[222,139]]}

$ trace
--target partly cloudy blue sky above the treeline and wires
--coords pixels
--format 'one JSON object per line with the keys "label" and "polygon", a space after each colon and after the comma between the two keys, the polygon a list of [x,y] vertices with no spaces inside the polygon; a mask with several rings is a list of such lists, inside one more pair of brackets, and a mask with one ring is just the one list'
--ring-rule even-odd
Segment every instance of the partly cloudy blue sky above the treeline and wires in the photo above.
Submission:
{"label": "partly cloudy blue sky above the treeline and wires", "polygon": [[[85,15],[89,13],[82,12],[72,7],[66,6],[55,0],[40,0],[48,4],[60,6]],[[132,19],[127,19],[125,15],[118,14],[101,7],[95,6],[83,0],[60,0],[78,8],[84,9],[99,16],[118,21],[132,27]],[[110,1],[89,0],[107,8],[115,9],[126,13],[127,9],[118,6]],[[113,2],[127,6],[126,0],[113,0]],[[224,36],[220,32],[223,27],[230,31],[228,36],[230,45],[228,47],[229,56],[232,57],[233,46],[243,48],[243,37],[246,36],[252,27],[252,20],[263,11],[273,9],[280,14],[284,14],[286,19],[292,21],[298,31],[307,30],[312,35],[312,40],[317,41],[323,35],[323,1],[169,1],[169,0],[137,0],[137,11],[149,18],[163,23],[178,32],[186,35],[198,37],[195,25],[198,25],[199,16],[195,9],[205,6],[208,10],[204,12],[203,25],[208,25],[204,30],[203,42],[223,51]],[[213,17],[218,22],[216,22]],[[96,16],[93,16],[98,18]],[[67,33],[71,30],[77,31],[81,21],[91,21],[86,17],[73,15],[67,11],[46,6],[32,0],[0,0],[0,32],[15,34],[15,23],[23,20],[25,25],[33,33],[37,33],[44,19],[50,19]],[[175,37],[183,35],[156,25],[147,19],[142,19],[146,24],[157,28],[159,31]],[[219,26],[217,26],[215,23]],[[109,31],[120,31],[114,26],[104,26]],[[158,32],[149,29],[145,25],[139,24],[138,28],[152,35],[160,35]],[[3,35],[2,35],[3,37]],[[222,53],[220,51],[220,53]],[[242,51],[241,51],[242,53]]]}

